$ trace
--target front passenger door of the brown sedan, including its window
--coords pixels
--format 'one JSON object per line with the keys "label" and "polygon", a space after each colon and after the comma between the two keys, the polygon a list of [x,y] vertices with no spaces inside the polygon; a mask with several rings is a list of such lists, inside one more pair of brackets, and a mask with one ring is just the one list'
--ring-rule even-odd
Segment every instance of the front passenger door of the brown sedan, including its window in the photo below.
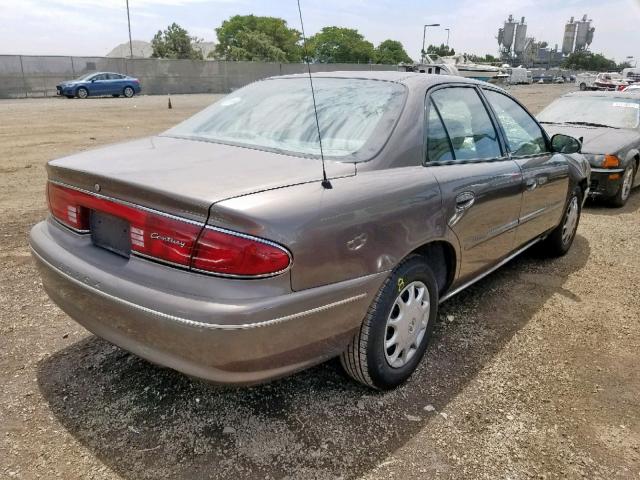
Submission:
{"label": "front passenger door of the brown sedan, including its window", "polygon": [[569,188],[569,165],[551,153],[542,127],[511,97],[483,89],[503,131],[511,158],[522,169],[522,211],[516,244],[522,245],[560,222]]}

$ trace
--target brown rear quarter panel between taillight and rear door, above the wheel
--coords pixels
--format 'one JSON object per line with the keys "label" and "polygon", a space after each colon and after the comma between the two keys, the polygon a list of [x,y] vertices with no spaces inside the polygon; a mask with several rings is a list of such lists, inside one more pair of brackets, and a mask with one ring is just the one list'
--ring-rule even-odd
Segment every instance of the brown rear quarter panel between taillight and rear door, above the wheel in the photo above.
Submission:
{"label": "brown rear quarter panel between taillight and rear door, above the wheel", "polygon": [[293,290],[393,269],[414,249],[445,240],[440,189],[428,168],[359,172],[214,204],[209,223],[285,245]]}

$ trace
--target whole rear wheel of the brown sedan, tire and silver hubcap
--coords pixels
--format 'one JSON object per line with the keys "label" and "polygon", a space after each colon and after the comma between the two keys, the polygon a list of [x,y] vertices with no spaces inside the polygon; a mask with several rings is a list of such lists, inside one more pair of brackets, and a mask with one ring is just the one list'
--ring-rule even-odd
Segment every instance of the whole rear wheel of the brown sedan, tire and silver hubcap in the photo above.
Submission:
{"label": "whole rear wheel of the brown sedan, tire and silver hubcap", "polygon": [[419,255],[408,257],[385,280],[340,362],[360,383],[389,390],[414,372],[438,313],[438,287]]}

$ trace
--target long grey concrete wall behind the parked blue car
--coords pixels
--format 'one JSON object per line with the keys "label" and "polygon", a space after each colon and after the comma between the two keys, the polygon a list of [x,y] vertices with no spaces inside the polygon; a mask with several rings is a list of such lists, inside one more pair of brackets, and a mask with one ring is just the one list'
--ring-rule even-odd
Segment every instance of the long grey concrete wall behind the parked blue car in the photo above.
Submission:
{"label": "long grey concrete wall behind the parked blue car", "polygon": [[[132,75],[140,79],[144,94],[167,94],[227,93],[261,78],[306,69],[302,63],[0,55],[0,98],[53,96],[61,81],[98,71]],[[395,69],[395,65],[311,65],[312,71]]]}

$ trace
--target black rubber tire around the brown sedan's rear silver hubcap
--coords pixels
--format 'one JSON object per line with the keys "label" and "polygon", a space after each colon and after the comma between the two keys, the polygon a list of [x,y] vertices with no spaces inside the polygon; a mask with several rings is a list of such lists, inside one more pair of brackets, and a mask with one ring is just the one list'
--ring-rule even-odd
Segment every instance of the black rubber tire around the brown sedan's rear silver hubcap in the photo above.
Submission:
{"label": "black rubber tire around the brown sedan's rear silver hubcap", "polygon": [[[427,323],[426,326],[422,325],[420,332],[424,330],[424,334],[417,342],[417,347],[410,347],[412,356],[404,365],[392,367],[387,359],[389,349],[385,348],[385,342],[389,340],[389,328],[394,331],[394,327],[387,325],[387,319],[396,308],[396,300],[400,301],[400,297],[404,295],[402,292],[413,285],[424,285],[428,291],[429,305],[423,310]],[[358,333],[340,356],[342,367],[354,380],[378,390],[390,390],[401,385],[411,376],[424,356],[437,315],[438,286],[435,276],[424,257],[411,255],[394,269],[380,287]],[[421,320],[423,319],[424,317]],[[415,320],[413,318],[409,328],[415,328]],[[416,330],[417,328],[413,331]],[[412,330],[409,329],[406,333],[410,335]]]}

